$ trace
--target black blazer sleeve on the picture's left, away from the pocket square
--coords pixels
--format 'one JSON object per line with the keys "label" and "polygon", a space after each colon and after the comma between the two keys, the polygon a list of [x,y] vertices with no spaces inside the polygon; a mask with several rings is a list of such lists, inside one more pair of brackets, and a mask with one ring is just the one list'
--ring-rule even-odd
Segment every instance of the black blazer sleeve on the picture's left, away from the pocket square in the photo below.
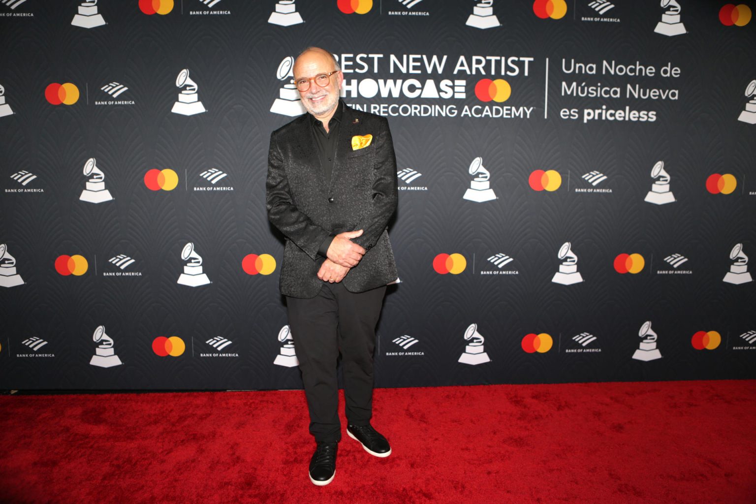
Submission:
{"label": "black blazer sleeve on the picture's left, away from the pocket square", "polygon": [[268,220],[271,224],[314,261],[318,257],[321,243],[330,236],[330,233],[314,224],[307,215],[296,208],[275,131],[271,134],[271,146],[268,150],[265,206],[268,209]]}

